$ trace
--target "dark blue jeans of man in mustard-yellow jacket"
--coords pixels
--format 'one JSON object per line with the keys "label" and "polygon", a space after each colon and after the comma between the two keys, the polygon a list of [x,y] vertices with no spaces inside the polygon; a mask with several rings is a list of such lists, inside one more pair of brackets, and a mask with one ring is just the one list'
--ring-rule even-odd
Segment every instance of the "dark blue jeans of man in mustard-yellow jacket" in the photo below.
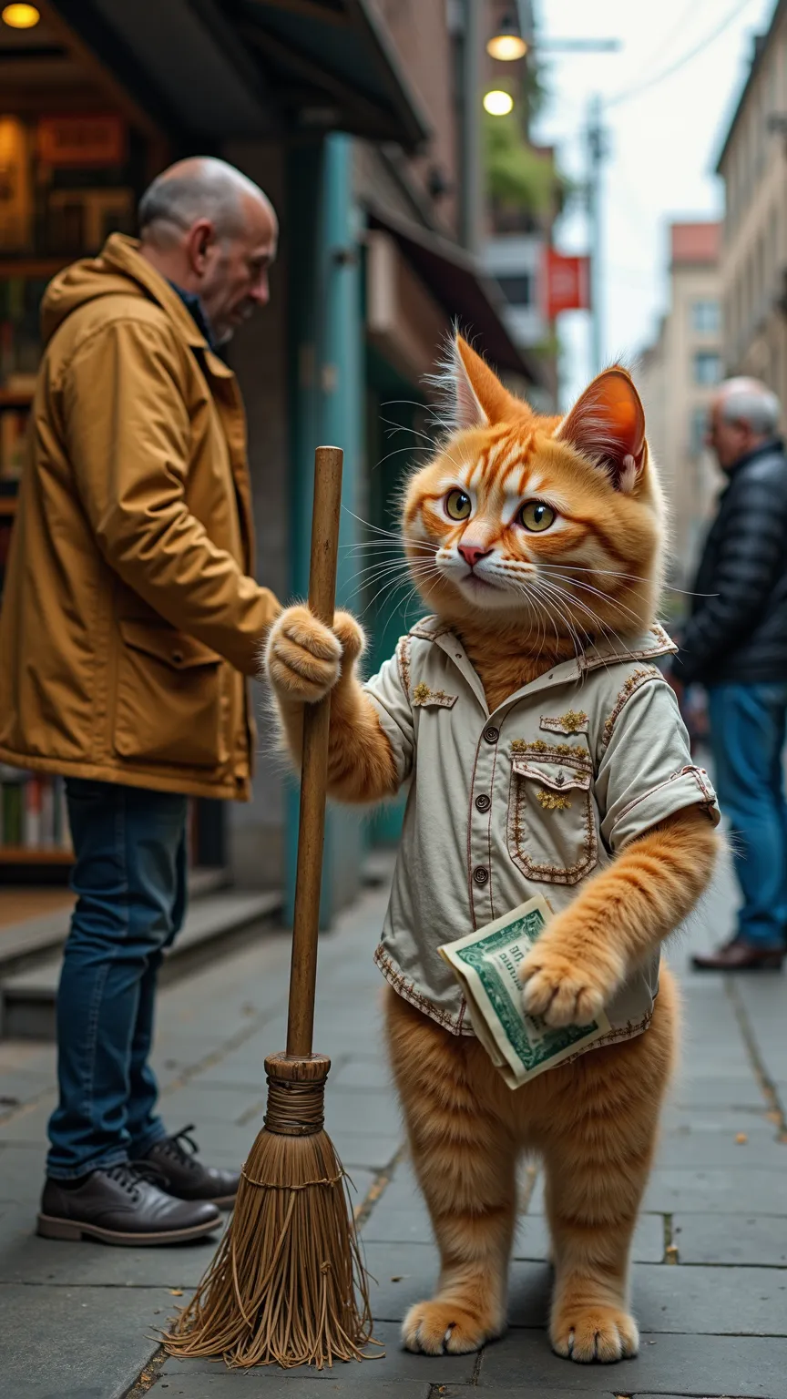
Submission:
{"label": "dark blue jeans of man in mustard-yellow jacket", "polygon": [[186,905],[186,797],[69,778],[77,904],[57,992],[46,1174],[73,1179],[167,1133],[148,1065],[155,979]]}

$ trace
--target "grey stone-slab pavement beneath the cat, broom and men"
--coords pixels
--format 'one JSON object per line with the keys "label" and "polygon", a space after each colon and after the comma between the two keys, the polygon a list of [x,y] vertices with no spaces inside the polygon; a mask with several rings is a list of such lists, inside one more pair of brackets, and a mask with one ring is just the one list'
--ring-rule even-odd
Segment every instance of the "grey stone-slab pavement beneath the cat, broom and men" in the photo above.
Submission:
{"label": "grey stone-slab pavement beneath the cat, broom and men", "polygon": [[[367,1202],[363,1237],[385,1357],[321,1375],[164,1358],[155,1328],[197,1281],[214,1242],[133,1251],[34,1237],[55,1056],[50,1045],[0,1042],[0,1393],[318,1399],[326,1386],[357,1399],[469,1399],[475,1388],[499,1399],[787,1399],[787,981],[683,975],[688,949],[731,926],[728,872],[672,950],[685,992],[683,1070],[634,1244],[641,1351],[613,1367],[571,1365],[549,1349],[539,1179],[518,1231],[503,1340],[441,1360],[399,1349],[402,1315],[434,1281],[436,1249],[379,1039],[371,954],[384,905],[384,893],[367,893],[321,943],[315,1046],[333,1059],[328,1130]],[[284,1044],[287,971],[287,937],[263,933],[253,950],[161,995],[167,1122],[197,1123],[209,1161],[242,1160],[262,1125],[263,1058]]]}

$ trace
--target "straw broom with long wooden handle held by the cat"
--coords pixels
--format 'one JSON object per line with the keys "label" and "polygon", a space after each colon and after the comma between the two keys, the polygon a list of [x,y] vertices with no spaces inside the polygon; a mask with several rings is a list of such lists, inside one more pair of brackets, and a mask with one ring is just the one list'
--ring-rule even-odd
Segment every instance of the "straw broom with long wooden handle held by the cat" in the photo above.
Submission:
{"label": "straw broom with long wooden handle held by the cat", "polygon": [[[335,446],[315,453],[308,600],[329,627],[342,459]],[[361,1360],[371,1336],[344,1170],[323,1130],[330,1059],[311,1052],[329,722],[329,695],[305,708],[287,1049],[265,1060],[265,1126],[244,1164],[216,1258],[164,1337],[171,1356],[322,1368]]]}

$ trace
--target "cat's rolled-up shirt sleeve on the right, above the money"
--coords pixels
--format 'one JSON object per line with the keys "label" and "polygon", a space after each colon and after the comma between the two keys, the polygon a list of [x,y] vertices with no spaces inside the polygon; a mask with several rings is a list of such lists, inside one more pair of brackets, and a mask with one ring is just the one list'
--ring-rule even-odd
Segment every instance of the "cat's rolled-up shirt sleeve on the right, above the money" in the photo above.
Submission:
{"label": "cat's rolled-up shirt sleeve on the right, above the money", "polygon": [[704,768],[692,762],[678,702],[661,677],[634,688],[609,729],[595,783],[609,851],[688,806],[702,806],[718,824],[716,792]]}

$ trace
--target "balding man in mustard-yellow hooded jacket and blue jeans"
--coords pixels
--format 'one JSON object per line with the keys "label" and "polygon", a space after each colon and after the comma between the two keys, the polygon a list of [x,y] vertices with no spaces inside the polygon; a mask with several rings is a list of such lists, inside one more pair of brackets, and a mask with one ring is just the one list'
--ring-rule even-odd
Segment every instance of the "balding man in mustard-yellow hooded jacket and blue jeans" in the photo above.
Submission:
{"label": "balding man in mustard-yellow hooded jacket and blue jeans", "polygon": [[0,618],[0,761],[66,776],[77,905],[39,1233],[118,1244],[220,1224],[238,1178],[168,1136],[148,1065],[185,908],[186,796],[246,797],[246,676],[279,611],[253,576],[245,420],[216,354],[265,306],[277,224],[189,159],[43,298],[45,354]]}

